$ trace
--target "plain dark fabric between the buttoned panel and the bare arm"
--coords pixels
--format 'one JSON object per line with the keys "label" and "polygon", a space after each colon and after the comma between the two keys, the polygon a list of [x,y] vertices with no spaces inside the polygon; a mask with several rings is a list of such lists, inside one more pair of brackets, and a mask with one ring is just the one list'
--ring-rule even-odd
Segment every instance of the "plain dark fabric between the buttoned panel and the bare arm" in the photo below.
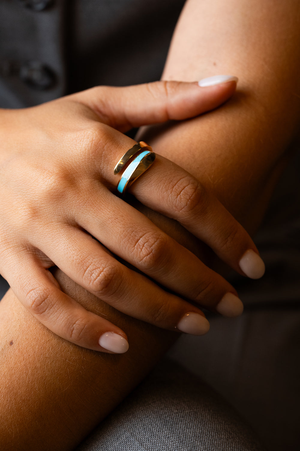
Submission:
{"label": "plain dark fabric between the buttoned panel and the bare arm", "polygon": [[159,80],[184,2],[72,0],[71,90]]}

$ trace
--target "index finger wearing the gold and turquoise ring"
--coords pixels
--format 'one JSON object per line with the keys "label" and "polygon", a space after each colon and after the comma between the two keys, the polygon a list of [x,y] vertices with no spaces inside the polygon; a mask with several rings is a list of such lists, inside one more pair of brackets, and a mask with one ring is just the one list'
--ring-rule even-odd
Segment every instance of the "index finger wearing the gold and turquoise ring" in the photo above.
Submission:
{"label": "index finger wearing the gold and turquoise ring", "polygon": [[[134,141],[109,128],[106,133],[106,154],[110,155],[107,161],[111,162],[101,171],[110,186],[116,186],[113,167],[125,152],[126,141],[128,147]],[[212,193],[181,167],[157,155],[153,166],[132,184],[129,192],[143,205],[178,221],[235,271],[253,279],[264,274],[264,262],[250,235]]]}

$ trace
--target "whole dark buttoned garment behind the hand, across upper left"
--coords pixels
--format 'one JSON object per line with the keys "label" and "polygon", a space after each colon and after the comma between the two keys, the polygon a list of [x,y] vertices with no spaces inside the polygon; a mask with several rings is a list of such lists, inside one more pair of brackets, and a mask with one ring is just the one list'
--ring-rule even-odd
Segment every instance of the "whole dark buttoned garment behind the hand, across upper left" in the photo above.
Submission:
{"label": "whole dark buttoned garment behind the hand, across upper left", "polygon": [[[0,2],[0,107],[159,80],[184,0]],[[31,5],[31,7],[30,7]],[[29,6],[29,7],[28,7]]]}

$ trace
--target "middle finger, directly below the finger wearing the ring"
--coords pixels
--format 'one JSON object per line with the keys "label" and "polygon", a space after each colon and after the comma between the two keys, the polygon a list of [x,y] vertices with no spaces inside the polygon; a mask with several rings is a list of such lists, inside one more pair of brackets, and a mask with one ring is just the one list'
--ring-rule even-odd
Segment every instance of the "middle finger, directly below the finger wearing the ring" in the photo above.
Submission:
{"label": "middle finger, directly below the finger wearing the ring", "polygon": [[111,252],[167,289],[203,307],[215,309],[223,299],[223,314],[241,313],[241,302],[236,299],[232,302],[233,297],[227,296],[228,308],[225,307],[224,295],[237,296],[232,285],[108,189],[99,186],[88,202],[80,205],[77,223]]}

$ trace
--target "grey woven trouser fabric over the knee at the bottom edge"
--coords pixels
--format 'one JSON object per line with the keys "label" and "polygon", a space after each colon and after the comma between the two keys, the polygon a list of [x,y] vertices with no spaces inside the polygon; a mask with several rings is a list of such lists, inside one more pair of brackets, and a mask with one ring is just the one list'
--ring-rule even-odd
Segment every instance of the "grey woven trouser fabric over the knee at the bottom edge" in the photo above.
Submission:
{"label": "grey woven trouser fabric over the knee at the bottom edge", "polygon": [[262,451],[201,379],[160,364],[76,451]]}

